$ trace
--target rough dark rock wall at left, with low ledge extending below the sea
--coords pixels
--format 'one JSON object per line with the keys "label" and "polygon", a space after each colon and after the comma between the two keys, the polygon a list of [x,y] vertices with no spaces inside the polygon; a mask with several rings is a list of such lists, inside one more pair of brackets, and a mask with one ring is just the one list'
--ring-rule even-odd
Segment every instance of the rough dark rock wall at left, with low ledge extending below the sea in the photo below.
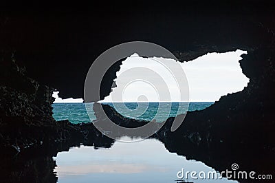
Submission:
{"label": "rough dark rock wall at left, with low ledge extending below the sea", "polygon": [[[89,124],[72,125],[52,117],[53,88],[26,76],[14,54],[0,58],[0,155],[67,142],[94,143],[101,133]],[[68,142],[69,141],[69,142]]]}

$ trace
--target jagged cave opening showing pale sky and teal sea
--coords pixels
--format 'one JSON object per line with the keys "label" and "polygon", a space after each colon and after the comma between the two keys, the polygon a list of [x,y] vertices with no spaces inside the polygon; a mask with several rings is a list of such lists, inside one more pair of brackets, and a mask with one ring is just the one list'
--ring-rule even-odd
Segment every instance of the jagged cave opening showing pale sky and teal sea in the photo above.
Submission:
{"label": "jagged cave opening showing pale sky and teal sea", "polygon": [[[158,58],[174,65],[173,67],[180,65],[183,69],[188,81],[189,94],[184,100],[180,98],[178,89],[178,85],[182,83],[177,83],[173,73],[164,67],[165,65],[159,65],[155,58],[133,54],[122,61],[113,80],[111,93],[98,103],[113,107],[127,118],[157,122],[163,122],[170,116],[184,114],[187,111],[206,109],[219,101],[221,96],[240,92],[248,86],[250,79],[243,74],[239,63],[242,54],[248,52],[244,50],[212,52],[181,63],[172,58]],[[133,70],[137,67],[139,68],[137,71]],[[145,69],[153,72],[146,72]],[[144,73],[147,78],[151,78],[150,82],[138,79]],[[161,92],[157,89],[164,88],[163,85],[168,88],[168,98],[159,98]],[[88,111],[89,115],[87,114],[82,98],[62,99],[58,97],[58,92],[54,92],[53,96],[56,98],[52,105],[56,120],[68,119],[72,123],[96,120],[94,112],[90,114]],[[167,111],[168,109],[170,110]],[[158,110],[163,112],[157,116]]]}

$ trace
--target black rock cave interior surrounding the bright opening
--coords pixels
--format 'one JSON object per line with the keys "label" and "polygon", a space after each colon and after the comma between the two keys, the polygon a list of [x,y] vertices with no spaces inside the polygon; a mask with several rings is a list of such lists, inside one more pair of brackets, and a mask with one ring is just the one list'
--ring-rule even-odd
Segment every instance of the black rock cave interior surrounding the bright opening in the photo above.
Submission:
{"label": "black rock cave interior surrounding the bright opening", "polygon": [[[57,89],[61,98],[84,98],[85,76],[91,63],[109,47],[129,41],[162,45],[181,62],[208,52],[246,50],[240,66],[250,79],[247,87],[222,96],[206,109],[191,111],[176,131],[170,131],[173,117],[168,118],[151,138],[162,142],[171,153],[218,171],[237,162],[244,170],[273,173],[272,1],[141,3],[129,9],[117,3],[81,11],[3,6],[0,23],[3,182],[56,182],[52,157],[58,152],[80,144],[97,149],[115,143],[89,123],[56,122],[52,94]],[[100,100],[111,93],[120,65],[122,61],[113,65],[102,80]],[[112,107],[100,106],[115,121],[126,125],[139,122],[121,116]]]}

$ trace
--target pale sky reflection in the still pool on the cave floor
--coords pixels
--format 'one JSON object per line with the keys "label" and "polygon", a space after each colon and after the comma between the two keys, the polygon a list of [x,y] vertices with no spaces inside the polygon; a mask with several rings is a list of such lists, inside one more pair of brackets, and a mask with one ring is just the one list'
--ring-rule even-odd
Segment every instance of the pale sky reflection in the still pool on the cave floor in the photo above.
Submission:
{"label": "pale sky reflection in the still pool on the cave floor", "polygon": [[[182,168],[214,171],[202,162],[169,153],[164,144],[155,139],[133,143],[116,141],[110,149],[74,147],[58,153],[54,159],[58,182],[175,182]],[[225,178],[189,181],[234,182]]]}

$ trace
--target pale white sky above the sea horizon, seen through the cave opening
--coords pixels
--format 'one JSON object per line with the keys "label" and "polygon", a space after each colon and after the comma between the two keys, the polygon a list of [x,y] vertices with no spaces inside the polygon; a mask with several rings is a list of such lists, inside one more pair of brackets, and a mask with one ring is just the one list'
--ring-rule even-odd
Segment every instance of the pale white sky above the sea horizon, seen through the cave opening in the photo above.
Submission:
{"label": "pale white sky above the sea horizon, seen through the cave opening", "polygon": [[[241,54],[247,52],[208,53],[184,63],[171,58],[143,58],[133,54],[122,62],[116,74],[117,87],[100,102],[217,101],[248,85],[249,78],[239,64]],[[57,98],[55,101],[75,102],[82,103],[83,99]]]}

